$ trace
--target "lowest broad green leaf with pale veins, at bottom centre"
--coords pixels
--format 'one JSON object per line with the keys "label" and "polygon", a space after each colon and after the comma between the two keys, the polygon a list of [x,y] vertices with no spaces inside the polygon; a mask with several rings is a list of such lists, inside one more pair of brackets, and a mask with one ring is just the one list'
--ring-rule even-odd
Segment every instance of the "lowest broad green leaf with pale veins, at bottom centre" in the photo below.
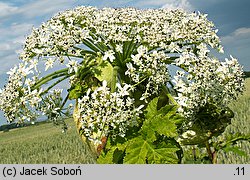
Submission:
{"label": "lowest broad green leaf with pale veins, at bottom centre", "polygon": [[147,164],[147,163],[178,163],[175,145],[167,145],[157,148],[156,145],[145,140],[142,136],[136,137],[128,142],[124,163]]}

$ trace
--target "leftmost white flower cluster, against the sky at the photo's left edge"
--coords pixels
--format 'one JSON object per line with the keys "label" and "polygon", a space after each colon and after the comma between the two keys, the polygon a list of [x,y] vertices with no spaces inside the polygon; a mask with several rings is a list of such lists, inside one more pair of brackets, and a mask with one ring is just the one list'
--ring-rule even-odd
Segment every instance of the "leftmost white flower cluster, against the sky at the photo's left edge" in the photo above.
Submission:
{"label": "leftmost white flower cluster, against the sky at the photo's left edge", "polygon": [[61,115],[62,90],[44,95],[42,88],[34,88],[40,73],[37,64],[37,60],[22,62],[7,73],[8,83],[0,89],[0,109],[8,122],[35,121],[41,113],[56,121]]}

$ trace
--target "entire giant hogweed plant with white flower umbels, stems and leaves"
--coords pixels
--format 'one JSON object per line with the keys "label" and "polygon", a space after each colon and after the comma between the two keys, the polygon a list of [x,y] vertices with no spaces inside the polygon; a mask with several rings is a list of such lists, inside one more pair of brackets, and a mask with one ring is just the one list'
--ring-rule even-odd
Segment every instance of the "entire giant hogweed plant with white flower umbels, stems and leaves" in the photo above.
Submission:
{"label": "entire giant hogweed plant with white flower umbels, stems and leaves", "polygon": [[[206,15],[183,10],[58,13],[26,38],[0,108],[9,122],[47,115],[59,124],[73,100],[77,131],[98,163],[182,163],[186,145],[206,148],[216,163],[216,151],[249,140],[212,141],[231,122],[227,104],[244,89],[238,61],[210,53],[223,52],[216,33]],[[46,74],[56,62],[65,67]],[[63,82],[65,97],[54,88]]]}

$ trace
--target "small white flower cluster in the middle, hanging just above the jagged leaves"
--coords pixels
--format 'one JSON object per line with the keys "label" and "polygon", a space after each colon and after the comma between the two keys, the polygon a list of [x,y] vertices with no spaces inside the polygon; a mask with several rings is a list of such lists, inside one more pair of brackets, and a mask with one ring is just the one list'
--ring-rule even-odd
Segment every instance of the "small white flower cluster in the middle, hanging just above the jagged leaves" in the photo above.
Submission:
{"label": "small white flower cluster in the middle, hanging just above the jagged leaves", "polygon": [[147,79],[146,90],[143,92],[141,100],[158,94],[159,87],[166,85],[170,79],[168,65],[164,62],[168,59],[163,51],[149,53],[147,47],[140,46],[137,54],[132,55],[132,62],[127,63],[128,75],[136,84]]}

